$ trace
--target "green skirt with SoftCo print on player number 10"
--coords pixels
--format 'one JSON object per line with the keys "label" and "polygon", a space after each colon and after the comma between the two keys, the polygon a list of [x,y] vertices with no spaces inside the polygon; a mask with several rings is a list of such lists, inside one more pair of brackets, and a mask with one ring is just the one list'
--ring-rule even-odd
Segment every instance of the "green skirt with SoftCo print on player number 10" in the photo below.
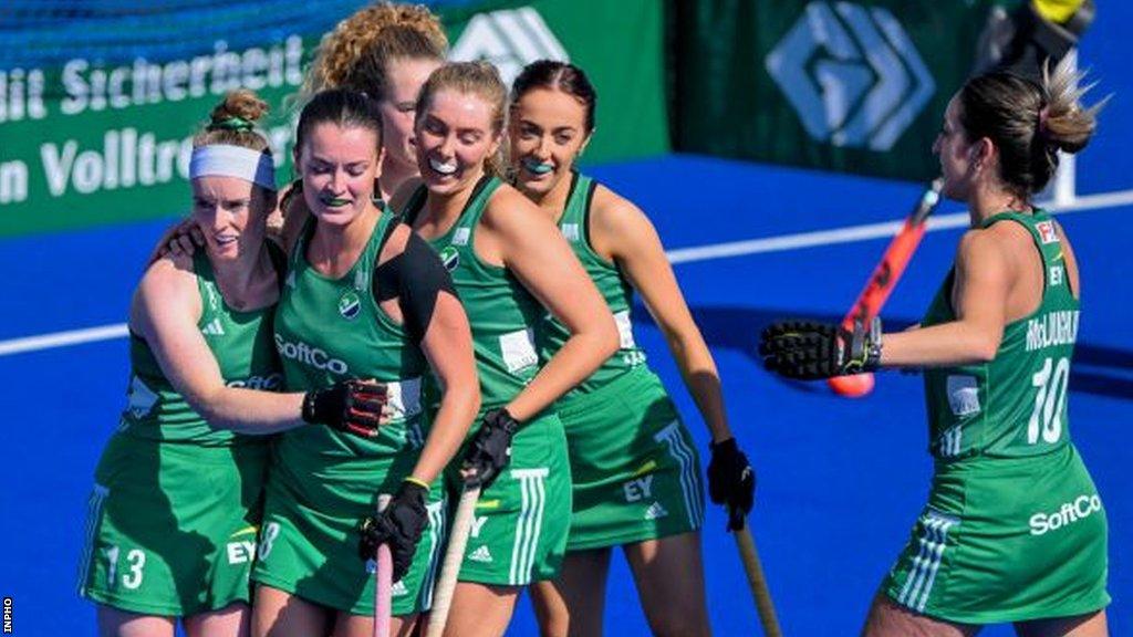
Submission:
{"label": "green skirt with SoftCo print on player number 10", "polygon": [[937,462],[928,506],[886,579],[891,600],[957,623],[1104,609],[1106,510],[1072,444]]}

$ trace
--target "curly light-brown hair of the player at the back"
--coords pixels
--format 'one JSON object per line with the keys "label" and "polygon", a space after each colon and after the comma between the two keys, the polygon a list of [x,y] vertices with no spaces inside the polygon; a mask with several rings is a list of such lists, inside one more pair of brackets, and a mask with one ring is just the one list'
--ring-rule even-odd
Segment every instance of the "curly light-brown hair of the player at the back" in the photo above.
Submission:
{"label": "curly light-brown hair of the player at the back", "polygon": [[386,66],[399,58],[443,61],[449,40],[423,5],[378,2],[359,9],[323,36],[303,86],[309,96],[346,87],[383,100]]}

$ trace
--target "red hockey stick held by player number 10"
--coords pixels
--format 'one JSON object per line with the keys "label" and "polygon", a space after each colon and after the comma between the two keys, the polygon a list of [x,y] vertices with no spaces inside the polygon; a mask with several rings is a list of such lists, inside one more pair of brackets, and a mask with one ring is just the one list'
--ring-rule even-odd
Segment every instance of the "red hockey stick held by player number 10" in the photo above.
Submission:
{"label": "red hockey stick held by player number 10", "polygon": [[[944,179],[938,177],[932,180],[921,195],[920,201],[917,202],[917,207],[905,218],[905,224],[902,226],[901,231],[893,237],[889,246],[885,248],[881,261],[874,269],[874,273],[870,274],[861,294],[858,295],[858,300],[854,301],[853,307],[850,308],[850,312],[842,320],[843,329],[853,330],[857,322],[868,325],[881,311],[881,306],[889,298],[889,292],[897,284],[897,280],[904,273],[905,266],[912,260],[913,253],[917,252],[917,246],[920,245],[921,237],[925,236],[926,222],[928,221],[928,216],[932,214],[932,211],[936,210],[936,205],[940,202],[940,188],[943,187]],[[874,389],[874,374],[835,376],[827,379],[826,383],[841,396],[858,398],[866,396]]]}

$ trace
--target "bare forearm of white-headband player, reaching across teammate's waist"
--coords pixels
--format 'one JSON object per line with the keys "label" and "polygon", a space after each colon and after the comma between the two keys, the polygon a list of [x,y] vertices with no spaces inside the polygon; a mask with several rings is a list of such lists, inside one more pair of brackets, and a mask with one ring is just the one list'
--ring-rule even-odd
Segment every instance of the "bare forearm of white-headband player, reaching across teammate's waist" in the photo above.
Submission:
{"label": "bare forearm of white-headband player, reaching across teammate's waist", "polygon": [[189,406],[216,428],[270,434],[304,425],[303,393],[223,388],[186,397]]}

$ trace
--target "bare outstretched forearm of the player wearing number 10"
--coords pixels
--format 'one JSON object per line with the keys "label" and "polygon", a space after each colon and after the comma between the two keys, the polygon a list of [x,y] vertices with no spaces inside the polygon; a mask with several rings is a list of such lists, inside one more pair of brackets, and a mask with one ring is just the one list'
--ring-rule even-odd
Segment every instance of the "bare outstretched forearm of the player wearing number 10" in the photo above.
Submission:
{"label": "bare outstretched forearm of the player wearing number 10", "polygon": [[974,365],[995,358],[1003,332],[962,321],[881,337],[884,367]]}

